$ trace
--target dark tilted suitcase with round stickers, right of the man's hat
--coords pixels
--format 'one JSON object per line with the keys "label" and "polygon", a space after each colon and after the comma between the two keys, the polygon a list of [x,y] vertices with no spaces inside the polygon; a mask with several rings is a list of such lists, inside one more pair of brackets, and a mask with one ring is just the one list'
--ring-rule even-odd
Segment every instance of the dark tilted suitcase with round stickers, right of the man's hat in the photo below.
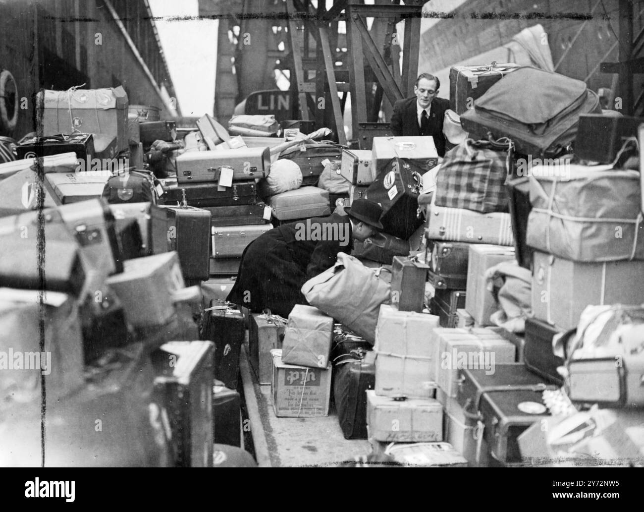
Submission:
{"label": "dark tilted suitcase with round stickers, right of the man's hat", "polygon": [[422,176],[402,158],[395,158],[366,190],[365,199],[383,207],[383,231],[408,240],[424,222],[418,213]]}

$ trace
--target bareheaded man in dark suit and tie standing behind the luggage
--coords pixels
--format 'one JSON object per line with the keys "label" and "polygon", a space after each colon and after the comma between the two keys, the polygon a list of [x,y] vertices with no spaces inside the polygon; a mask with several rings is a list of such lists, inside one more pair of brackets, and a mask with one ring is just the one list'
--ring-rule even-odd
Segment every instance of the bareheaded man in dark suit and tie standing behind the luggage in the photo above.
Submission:
{"label": "bareheaded man in dark suit and tie standing behind the luggage", "polygon": [[437,98],[440,81],[434,75],[422,73],[416,79],[412,98],[398,100],[393,106],[390,122],[393,135],[431,135],[439,156],[445,155],[445,136],[442,133],[445,111],[450,102]]}

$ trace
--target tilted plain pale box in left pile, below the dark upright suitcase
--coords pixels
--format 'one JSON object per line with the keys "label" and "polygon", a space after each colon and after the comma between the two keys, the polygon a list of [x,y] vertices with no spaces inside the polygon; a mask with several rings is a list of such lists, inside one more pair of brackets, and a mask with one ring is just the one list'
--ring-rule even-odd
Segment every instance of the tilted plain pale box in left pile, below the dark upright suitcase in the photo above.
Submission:
{"label": "tilted plain pale box in left pile, below the dark upright suitcase", "polygon": [[120,299],[128,321],[151,327],[169,321],[175,313],[172,292],[185,287],[175,251],[124,261],[121,274],[106,281]]}

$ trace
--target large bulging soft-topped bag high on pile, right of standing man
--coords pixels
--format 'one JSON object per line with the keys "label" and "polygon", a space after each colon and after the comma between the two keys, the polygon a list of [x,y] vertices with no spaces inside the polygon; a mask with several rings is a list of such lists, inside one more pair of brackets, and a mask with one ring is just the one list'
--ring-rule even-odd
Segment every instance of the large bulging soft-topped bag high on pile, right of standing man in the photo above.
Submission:
{"label": "large bulging soft-topped bag high on pile, right of standing man", "polygon": [[601,107],[585,82],[526,66],[491,86],[460,122],[473,137],[511,138],[517,153],[554,156],[573,142],[587,113]]}

